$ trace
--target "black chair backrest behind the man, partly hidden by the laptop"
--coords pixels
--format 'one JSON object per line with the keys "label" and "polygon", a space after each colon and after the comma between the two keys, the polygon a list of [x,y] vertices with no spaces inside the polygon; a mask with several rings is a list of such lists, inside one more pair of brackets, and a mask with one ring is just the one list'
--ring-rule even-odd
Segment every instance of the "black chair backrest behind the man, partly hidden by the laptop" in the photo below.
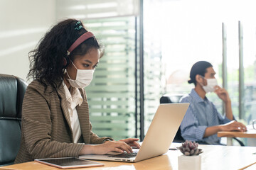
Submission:
{"label": "black chair backrest behind the man, partly hidden by the laptop", "polygon": [[[161,96],[160,103],[178,103],[179,99],[183,94],[165,94]],[[181,128],[178,128],[176,135],[174,137],[174,142],[184,142],[185,140],[181,136]]]}

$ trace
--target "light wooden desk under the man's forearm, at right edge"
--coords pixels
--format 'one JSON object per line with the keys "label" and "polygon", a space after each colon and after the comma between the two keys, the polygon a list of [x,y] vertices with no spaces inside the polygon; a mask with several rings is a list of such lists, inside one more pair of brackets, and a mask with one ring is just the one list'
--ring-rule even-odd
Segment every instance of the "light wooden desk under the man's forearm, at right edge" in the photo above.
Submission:
{"label": "light wooden desk under the man's forearm, at right edge", "polygon": [[227,145],[232,146],[232,137],[245,137],[252,138],[252,140],[248,141],[250,146],[256,146],[256,130],[248,129],[247,132],[218,132],[218,137],[228,137]]}

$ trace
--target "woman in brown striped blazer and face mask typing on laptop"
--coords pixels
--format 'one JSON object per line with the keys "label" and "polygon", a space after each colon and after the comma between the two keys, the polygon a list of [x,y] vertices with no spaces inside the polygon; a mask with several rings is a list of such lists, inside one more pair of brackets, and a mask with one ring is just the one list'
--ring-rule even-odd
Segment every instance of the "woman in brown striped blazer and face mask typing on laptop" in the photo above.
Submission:
{"label": "woman in brown striped blazer and face mask typing on laptop", "polygon": [[84,88],[102,57],[95,36],[68,19],[46,33],[30,52],[31,69],[23,100],[21,147],[15,163],[38,158],[132,152],[138,139],[114,141],[92,132]]}

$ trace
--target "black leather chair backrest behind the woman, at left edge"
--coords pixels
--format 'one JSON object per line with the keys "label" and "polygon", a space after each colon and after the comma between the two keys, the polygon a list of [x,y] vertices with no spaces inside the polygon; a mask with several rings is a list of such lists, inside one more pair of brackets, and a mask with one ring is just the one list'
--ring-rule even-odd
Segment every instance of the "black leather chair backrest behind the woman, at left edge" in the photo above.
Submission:
{"label": "black leather chair backrest behind the woman, at left edge", "polygon": [[21,108],[26,81],[0,74],[0,166],[13,164],[21,142]]}

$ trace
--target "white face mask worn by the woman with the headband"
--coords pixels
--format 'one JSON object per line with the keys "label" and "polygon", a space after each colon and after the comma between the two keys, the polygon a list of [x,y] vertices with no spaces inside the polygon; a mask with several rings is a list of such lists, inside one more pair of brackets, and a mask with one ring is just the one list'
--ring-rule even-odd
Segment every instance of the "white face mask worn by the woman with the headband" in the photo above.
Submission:
{"label": "white face mask worn by the woman with the headband", "polygon": [[[75,67],[75,64],[73,62],[72,64]],[[75,80],[71,79],[68,75],[68,77],[70,78],[68,79],[70,85],[76,88],[85,88],[92,81],[94,69],[78,69],[77,67],[75,67],[75,69],[77,69],[77,75]]]}

